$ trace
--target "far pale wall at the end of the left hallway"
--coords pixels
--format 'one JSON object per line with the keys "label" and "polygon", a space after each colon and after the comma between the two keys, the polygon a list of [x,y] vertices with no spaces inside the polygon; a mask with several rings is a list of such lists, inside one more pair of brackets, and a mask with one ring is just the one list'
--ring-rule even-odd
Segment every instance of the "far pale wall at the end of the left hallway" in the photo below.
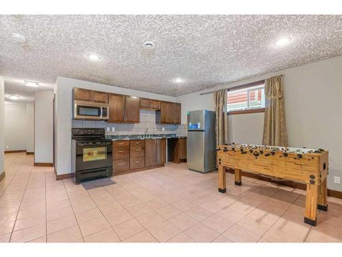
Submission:
{"label": "far pale wall at the end of the left hallway", "polygon": [[5,151],[26,150],[26,103],[5,103]]}

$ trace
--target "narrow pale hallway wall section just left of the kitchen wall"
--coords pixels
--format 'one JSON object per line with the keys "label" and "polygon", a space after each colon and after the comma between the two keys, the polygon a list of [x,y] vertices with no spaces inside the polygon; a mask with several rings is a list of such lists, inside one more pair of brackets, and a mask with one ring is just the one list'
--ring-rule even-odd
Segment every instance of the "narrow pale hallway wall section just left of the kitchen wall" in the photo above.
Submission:
{"label": "narrow pale hallway wall section just left of the kitchen wall", "polygon": [[53,91],[34,93],[34,162],[53,162]]}

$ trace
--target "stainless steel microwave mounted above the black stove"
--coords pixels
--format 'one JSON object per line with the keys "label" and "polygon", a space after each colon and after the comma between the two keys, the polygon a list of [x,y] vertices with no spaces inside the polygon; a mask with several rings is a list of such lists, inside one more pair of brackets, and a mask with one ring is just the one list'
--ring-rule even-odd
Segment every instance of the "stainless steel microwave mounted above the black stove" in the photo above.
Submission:
{"label": "stainless steel microwave mounted above the black stove", "polygon": [[94,103],[92,101],[74,101],[73,119],[89,119],[93,121],[109,118],[108,103]]}

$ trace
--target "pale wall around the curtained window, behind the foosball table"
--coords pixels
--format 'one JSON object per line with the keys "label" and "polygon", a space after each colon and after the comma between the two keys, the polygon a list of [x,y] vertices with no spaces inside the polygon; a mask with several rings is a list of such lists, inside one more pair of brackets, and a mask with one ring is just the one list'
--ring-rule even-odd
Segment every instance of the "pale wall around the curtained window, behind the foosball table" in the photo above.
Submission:
{"label": "pale wall around the curtained window, behind the foosball table", "polygon": [[[285,74],[285,108],[289,145],[329,150],[328,188],[342,191],[334,175],[342,176],[342,56],[297,66],[276,73],[246,79],[211,90],[258,81]],[[207,90],[209,91],[209,90]],[[213,110],[213,94],[196,92],[178,97],[182,122],[188,110]],[[229,117],[231,142],[261,143],[263,114],[237,114]]]}

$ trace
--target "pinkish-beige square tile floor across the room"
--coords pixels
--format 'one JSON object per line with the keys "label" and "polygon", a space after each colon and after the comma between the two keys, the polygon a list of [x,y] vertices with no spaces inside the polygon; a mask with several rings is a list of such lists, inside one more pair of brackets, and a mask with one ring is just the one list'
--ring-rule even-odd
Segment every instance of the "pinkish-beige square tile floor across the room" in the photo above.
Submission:
{"label": "pinkish-beige square tile floor across the room", "polygon": [[218,174],[186,164],[120,175],[86,191],[55,180],[33,156],[5,155],[0,242],[341,242],[342,200],[329,197],[316,227],[303,223],[305,192],[243,178],[218,193]]}

